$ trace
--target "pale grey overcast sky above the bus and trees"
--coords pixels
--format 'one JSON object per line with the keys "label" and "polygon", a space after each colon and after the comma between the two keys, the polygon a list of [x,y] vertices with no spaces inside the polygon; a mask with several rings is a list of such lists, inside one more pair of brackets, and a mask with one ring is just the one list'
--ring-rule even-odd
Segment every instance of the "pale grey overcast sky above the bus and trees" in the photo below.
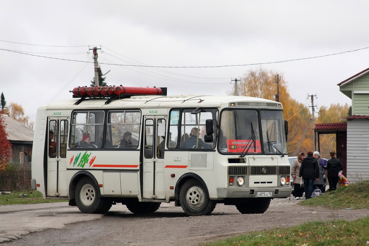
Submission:
{"label": "pale grey overcast sky above the bus and trees", "polygon": [[[368,9],[369,1],[337,0],[3,0],[0,93],[35,121],[37,107],[90,85],[94,66],[86,62],[97,46],[108,85],[225,95],[232,79],[261,66],[283,74],[292,98],[305,105],[308,94],[317,95],[318,108],[351,105],[337,84],[369,67]],[[248,65],[255,63],[269,64]]]}

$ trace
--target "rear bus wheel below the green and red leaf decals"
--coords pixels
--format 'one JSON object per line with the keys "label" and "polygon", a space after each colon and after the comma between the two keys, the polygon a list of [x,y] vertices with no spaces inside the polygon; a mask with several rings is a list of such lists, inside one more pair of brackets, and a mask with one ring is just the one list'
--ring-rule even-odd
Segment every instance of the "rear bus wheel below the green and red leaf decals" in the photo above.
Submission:
{"label": "rear bus wheel below the green and red leaf decals", "polygon": [[[107,200],[101,198],[92,179],[83,177],[76,186],[75,200],[78,209],[85,214],[105,213],[107,209]],[[107,209],[107,210],[106,210]]]}

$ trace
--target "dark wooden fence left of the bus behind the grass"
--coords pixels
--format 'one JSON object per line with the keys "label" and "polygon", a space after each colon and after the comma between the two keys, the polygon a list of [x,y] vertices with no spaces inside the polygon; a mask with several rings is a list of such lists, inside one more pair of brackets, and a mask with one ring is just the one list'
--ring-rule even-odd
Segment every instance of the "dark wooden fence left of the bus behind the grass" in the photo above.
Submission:
{"label": "dark wooden fence left of the bus behind the grass", "polygon": [[0,191],[31,189],[31,170],[0,171]]}

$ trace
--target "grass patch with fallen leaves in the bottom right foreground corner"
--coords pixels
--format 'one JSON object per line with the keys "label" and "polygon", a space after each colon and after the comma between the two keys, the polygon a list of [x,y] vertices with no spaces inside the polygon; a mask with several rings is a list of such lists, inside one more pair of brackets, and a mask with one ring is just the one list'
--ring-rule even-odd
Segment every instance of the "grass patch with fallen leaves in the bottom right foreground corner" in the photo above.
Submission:
{"label": "grass patch with fallen leaves in the bottom right foreground corner", "polygon": [[252,232],[204,246],[318,246],[318,245],[366,245],[369,239],[369,217],[354,221],[307,222],[291,228],[275,228],[270,231]]}

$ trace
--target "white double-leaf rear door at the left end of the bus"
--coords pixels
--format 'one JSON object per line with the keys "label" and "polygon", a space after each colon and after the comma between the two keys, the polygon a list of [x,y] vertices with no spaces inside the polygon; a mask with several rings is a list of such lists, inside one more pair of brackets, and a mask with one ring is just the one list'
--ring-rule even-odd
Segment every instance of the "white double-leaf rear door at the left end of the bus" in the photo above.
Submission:
{"label": "white double-leaf rear door at the left end of the bus", "polygon": [[68,117],[48,118],[46,197],[68,197],[66,150]]}

